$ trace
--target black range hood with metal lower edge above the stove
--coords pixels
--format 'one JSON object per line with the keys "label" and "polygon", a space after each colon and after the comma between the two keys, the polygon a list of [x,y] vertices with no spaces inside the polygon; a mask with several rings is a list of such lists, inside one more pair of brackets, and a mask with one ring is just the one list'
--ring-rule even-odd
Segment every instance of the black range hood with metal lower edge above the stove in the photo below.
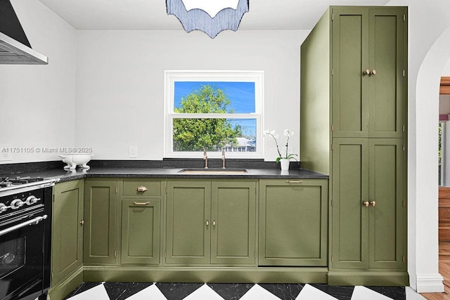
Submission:
{"label": "black range hood with metal lower edge above the stove", "polygon": [[49,59],[31,48],[10,0],[0,0],[0,64],[47,65]]}

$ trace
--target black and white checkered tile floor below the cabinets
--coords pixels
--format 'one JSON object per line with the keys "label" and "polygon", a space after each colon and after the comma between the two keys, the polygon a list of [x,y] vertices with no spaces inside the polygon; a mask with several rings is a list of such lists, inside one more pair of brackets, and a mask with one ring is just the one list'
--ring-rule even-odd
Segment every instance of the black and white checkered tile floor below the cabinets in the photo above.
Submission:
{"label": "black and white checkered tile floor below the cabinets", "polygon": [[424,300],[410,287],[316,284],[84,282],[70,300]]}

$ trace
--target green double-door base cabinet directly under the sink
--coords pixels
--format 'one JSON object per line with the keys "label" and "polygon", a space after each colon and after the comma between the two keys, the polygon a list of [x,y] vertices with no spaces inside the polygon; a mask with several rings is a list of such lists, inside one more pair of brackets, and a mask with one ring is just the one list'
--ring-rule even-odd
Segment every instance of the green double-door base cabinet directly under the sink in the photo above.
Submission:
{"label": "green double-door base cabinet directly under the sink", "polygon": [[256,181],[168,180],[165,263],[255,265]]}

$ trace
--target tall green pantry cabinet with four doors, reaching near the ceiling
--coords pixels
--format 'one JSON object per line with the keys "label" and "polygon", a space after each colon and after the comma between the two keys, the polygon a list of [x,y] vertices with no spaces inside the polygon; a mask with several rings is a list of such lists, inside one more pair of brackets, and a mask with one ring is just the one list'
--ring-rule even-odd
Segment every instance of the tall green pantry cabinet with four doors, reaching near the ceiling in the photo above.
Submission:
{"label": "tall green pantry cabinet with four doors, reaching near the ceiling", "polygon": [[407,8],[331,6],[302,44],[302,167],[330,175],[328,283],[407,285]]}

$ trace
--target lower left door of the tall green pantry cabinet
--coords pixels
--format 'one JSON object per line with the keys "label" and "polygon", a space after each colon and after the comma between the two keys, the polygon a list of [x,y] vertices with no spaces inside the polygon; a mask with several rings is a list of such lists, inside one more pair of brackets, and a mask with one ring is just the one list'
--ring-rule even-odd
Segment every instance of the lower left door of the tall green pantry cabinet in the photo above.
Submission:
{"label": "lower left door of the tall green pantry cabinet", "polygon": [[[334,138],[332,268],[368,268],[368,139]],[[367,202],[367,203],[366,203]]]}

